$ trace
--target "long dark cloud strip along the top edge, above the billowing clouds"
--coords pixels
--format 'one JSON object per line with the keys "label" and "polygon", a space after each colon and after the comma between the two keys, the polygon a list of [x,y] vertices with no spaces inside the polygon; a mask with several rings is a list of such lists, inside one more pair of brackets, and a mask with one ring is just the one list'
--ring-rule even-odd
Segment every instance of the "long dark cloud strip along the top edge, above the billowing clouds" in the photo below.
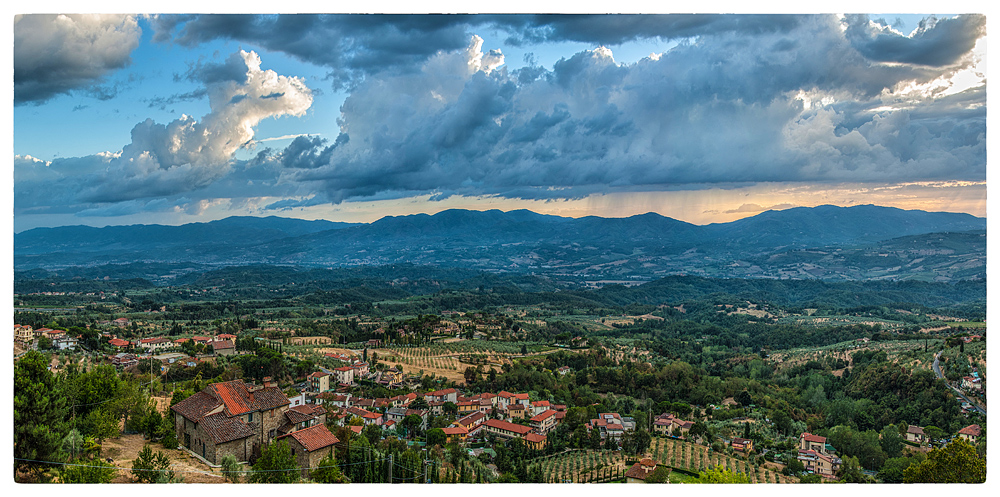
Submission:
{"label": "long dark cloud strip along the top edge, above the billowing clouds", "polygon": [[336,85],[387,69],[407,70],[439,51],[463,48],[482,28],[508,43],[578,41],[617,45],[717,33],[788,31],[794,15],[161,15],[156,41],[193,46],[214,39],[259,44],[330,68]]}

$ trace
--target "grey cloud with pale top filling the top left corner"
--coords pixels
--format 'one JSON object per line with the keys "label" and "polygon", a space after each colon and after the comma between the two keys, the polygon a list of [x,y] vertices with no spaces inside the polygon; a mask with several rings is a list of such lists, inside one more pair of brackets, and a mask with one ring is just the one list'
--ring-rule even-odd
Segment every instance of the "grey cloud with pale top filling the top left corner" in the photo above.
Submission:
{"label": "grey cloud with pale top filling the top left corner", "polygon": [[113,98],[118,85],[99,83],[131,63],[141,33],[134,16],[15,16],[15,105],[41,104],[75,90],[101,100]]}

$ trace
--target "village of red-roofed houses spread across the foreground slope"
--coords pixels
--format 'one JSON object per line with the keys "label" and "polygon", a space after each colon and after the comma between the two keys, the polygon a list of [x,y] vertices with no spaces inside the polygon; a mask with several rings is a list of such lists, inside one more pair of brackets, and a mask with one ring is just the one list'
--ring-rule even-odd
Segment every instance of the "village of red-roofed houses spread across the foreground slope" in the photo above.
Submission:
{"label": "village of red-roofed houses spread across the foreground slope", "polygon": [[[129,323],[122,318],[105,324],[126,327]],[[64,330],[14,325],[14,339],[25,347],[37,348],[39,340],[49,340],[55,351],[82,348],[83,337],[72,335]],[[159,373],[165,374],[170,368],[197,368],[199,364],[213,363],[219,358],[253,353],[245,347],[238,350],[238,337],[230,333],[125,340],[113,332],[105,332],[101,340],[113,353],[96,358],[117,371],[136,372],[138,365],[145,362],[158,364]],[[250,343],[255,347],[280,347],[276,345],[280,342],[260,338]],[[233,379],[211,383],[179,401],[175,392],[169,412],[163,414],[172,418],[178,449],[203,464],[206,473],[215,474],[222,472],[223,459],[227,456],[249,467],[267,447],[284,442],[294,455],[303,479],[308,479],[325,457],[343,453],[345,449],[349,452],[351,440],[358,437],[365,438],[371,445],[397,440],[421,452],[433,447],[467,450],[469,455],[485,458],[483,467],[490,472],[487,480],[501,477],[492,461],[498,445],[516,446],[529,457],[557,455],[548,437],[566,422],[574,406],[557,404],[551,398],[528,392],[465,393],[459,382],[446,381],[452,385],[446,388],[421,388],[427,385],[426,376],[407,373],[401,365],[377,363],[377,367],[371,367],[365,360],[369,356],[368,346],[386,353],[386,349],[375,349],[382,346],[380,340],[371,339],[363,345],[362,350],[339,349],[339,352],[325,353],[331,367],[316,366],[298,383],[279,386],[271,377],[264,377],[259,383]],[[155,375],[155,369],[149,368],[148,373]],[[562,377],[572,372],[570,367],[562,366],[550,374]],[[978,374],[965,376],[962,382],[978,386]],[[373,392],[395,395],[366,395]],[[690,471],[690,468],[679,467],[680,464],[667,464],[675,463],[673,459],[664,461],[665,454],[659,453],[664,440],[707,449],[707,460],[711,460],[712,452],[716,451],[718,457],[744,461],[744,468],[748,462],[764,463],[775,482],[795,481],[788,475],[799,471],[801,475],[814,475],[822,480],[838,480],[843,460],[826,437],[803,431],[794,447],[789,447],[792,450],[784,453],[755,448],[751,438],[712,437],[705,424],[709,413],[719,413],[737,404],[739,402],[727,399],[721,406],[691,406],[688,418],[662,412],[655,416],[650,413],[643,419],[635,419],[628,413],[597,412],[591,407],[589,412],[583,410],[590,414],[584,420],[576,419],[581,411],[576,406],[574,430],[578,431],[583,421],[583,436],[588,448],[615,454],[614,465],[599,473],[597,480],[585,481],[609,478],[607,481],[620,479],[629,483],[669,482],[672,471]],[[745,426],[749,430],[750,425]],[[941,447],[953,437],[975,445],[981,436],[981,428],[976,424],[953,434],[941,433],[937,428],[932,431],[934,438],[919,426],[907,425],[905,433],[901,429],[900,435],[918,451]],[[749,431],[746,435],[750,436]],[[623,454],[626,446],[628,454]],[[768,455],[767,462],[765,455]],[[425,461],[428,458],[427,455],[421,457]],[[797,470],[790,471],[791,467]],[[439,475],[432,478],[429,471],[441,470],[425,466],[418,473],[428,481],[439,478]],[[681,473],[676,474],[675,479]],[[556,481],[555,478],[543,478],[542,481]],[[763,476],[761,480],[768,481],[767,478]]]}

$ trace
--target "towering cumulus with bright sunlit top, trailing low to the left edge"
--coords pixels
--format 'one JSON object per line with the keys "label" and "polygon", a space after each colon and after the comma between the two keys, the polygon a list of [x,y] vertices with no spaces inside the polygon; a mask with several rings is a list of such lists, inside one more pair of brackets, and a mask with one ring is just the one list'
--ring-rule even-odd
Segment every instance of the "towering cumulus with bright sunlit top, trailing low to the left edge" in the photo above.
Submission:
{"label": "towering cumulus with bright sunlit top, trailing low to the left edge", "polygon": [[[216,183],[234,171],[232,155],[252,142],[257,123],[300,116],[312,104],[300,79],[262,70],[260,64],[256,53],[240,51],[202,67],[197,77],[205,83],[211,112],[201,120],[185,115],[167,124],[147,119],[135,125],[131,143],[119,153],[51,163],[15,157],[15,211],[93,209],[185,195],[208,185],[219,191],[225,182]],[[49,191],[61,192],[59,199]]]}

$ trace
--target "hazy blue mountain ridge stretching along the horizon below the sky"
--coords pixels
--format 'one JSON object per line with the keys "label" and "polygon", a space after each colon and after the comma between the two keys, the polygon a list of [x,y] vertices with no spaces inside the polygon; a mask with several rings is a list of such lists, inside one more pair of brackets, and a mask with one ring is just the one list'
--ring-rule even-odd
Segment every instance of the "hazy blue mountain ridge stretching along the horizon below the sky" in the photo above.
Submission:
{"label": "hazy blue mountain ridge stretching along the horizon below the sky", "polygon": [[[566,218],[527,210],[453,209],[390,216],[369,224],[233,217],[182,226],[36,228],[14,235],[14,258],[19,270],[150,261],[329,267],[412,263],[595,278],[679,273],[807,278],[812,274],[809,265],[824,259],[804,262],[806,270],[799,273],[772,271],[761,264],[767,266],[772,255],[789,251],[831,247],[863,251],[868,245],[902,237],[985,229],[984,218],[969,214],[873,205],[798,207],[705,226],[655,213]],[[972,257],[963,259],[967,266],[963,274],[977,275],[978,242],[960,245],[965,247],[960,251],[971,251],[967,255]],[[981,256],[985,266],[985,237]],[[838,264],[846,264],[841,259]],[[744,266],[757,269],[744,271]],[[905,272],[899,273],[901,277]],[[842,273],[850,276],[838,276]],[[814,277],[866,277],[864,271],[836,269],[822,274]]]}

